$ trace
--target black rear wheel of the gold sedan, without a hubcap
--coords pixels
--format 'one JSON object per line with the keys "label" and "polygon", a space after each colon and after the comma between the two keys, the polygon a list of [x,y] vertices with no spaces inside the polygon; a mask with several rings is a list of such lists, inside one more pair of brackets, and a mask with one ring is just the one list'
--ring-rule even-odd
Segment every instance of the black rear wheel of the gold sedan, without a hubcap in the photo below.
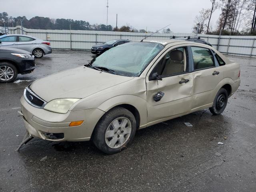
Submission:
{"label": "black rear wheel of the gold sedan, without a hubcap", "polygon": [[213,115],[220,115],[228,104],[228,92],[226,89],[221,88],[213,102],[213,106],[209,108]]}

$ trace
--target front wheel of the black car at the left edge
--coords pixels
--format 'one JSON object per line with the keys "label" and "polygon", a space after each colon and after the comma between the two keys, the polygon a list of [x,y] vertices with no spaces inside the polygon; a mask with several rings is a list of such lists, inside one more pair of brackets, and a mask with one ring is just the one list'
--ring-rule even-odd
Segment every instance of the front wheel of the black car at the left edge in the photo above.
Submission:
{"label": "front wheel of the black car at the left edge", "polygon": [[17,68],[8,62],[0,62],[0,82],[14,82],[17,78]]}

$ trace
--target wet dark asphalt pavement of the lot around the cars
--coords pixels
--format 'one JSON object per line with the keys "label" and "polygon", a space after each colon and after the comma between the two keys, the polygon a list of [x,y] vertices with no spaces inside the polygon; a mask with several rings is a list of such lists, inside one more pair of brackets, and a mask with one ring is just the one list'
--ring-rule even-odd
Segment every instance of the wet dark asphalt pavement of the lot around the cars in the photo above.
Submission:
{"label": "wet dark asphalt pavement of the lot around the cars", "polygon": [[[256,58],[229,58],[241,64],[242,82],[222,115],[201,110],[138,130],[130,147],[114,155],[92,142],[40,139],[16,152],[25,133],[19,100],[30,82],[0,84],[0,191],[255,192]],[[89,52],[54,50],[17,79],[35,80],[90,60]]]}

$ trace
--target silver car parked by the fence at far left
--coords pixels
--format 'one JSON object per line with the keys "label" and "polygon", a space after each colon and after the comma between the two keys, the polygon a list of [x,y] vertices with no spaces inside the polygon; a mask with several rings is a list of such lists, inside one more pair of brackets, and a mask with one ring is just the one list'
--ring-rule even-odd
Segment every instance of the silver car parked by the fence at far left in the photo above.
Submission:
{"label": "silver car parked by the fence at far left", "polygon": [[35,58],[42,58],[44,55],[52,53],[50,42],[21,34],[0,36],[0,46],[28,51],[32,53]]}

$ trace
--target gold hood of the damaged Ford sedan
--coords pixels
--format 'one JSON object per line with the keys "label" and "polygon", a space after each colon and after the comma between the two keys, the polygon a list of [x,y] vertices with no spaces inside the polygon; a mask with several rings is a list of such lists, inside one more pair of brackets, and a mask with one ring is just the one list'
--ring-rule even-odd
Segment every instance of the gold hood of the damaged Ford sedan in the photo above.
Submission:
{"label": "gold hood of the damaged Ford sedan", "polygon": [[81,66],[38,79],[30,89],[49,102],[57,98],[85,98],[131,79]]}

